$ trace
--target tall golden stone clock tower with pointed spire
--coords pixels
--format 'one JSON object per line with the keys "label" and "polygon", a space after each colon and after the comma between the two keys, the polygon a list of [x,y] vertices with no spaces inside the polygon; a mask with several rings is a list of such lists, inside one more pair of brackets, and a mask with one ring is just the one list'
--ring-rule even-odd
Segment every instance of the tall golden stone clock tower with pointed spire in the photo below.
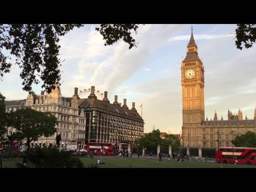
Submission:
{"label": "tall golden stone clock tower with pointed spire", "polygon": [[[198,57],[193,36],[187,45],[187,55],[182,61],[182,142],[184,146],[200,146],[200,125],[204,121],[204,66]],[[188,144],[190,140],[190,144]]]}

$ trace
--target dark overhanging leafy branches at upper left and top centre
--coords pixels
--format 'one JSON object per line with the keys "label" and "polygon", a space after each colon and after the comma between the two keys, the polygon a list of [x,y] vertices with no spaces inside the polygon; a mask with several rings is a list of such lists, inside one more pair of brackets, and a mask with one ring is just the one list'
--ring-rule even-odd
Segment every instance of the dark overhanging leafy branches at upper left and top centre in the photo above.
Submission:
{"label": "dark overhanging leafy branches at upper left and top centre", "polygon": [[[42,88],[50,93],[54,84],[61,85],[60,37],[83,24],[0,24],[0,79],[16,64],[21,69],[23,90],[31,91],[32,83],[43,81]],[[118,40],[136,46],[132,33],[138,24],[101,24],[96,28],[106,45]],[[6,52],[4,52],[6,51]],[[10,52],[11,56],[7,53]],[[14,59],[12,59],[14,57]]]}

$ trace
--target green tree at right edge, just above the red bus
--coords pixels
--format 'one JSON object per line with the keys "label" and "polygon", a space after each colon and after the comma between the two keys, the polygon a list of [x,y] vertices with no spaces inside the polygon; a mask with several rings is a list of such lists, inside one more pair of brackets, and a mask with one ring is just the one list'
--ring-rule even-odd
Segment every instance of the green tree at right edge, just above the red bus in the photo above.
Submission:
{"label": "green tree at right edge, just above the red bus", "polygon": [[246,134],[242,134],[240,136],[236,136],[233,140],[233,144],[236,147],[256,147],[256,134],[253,132],[246,132]]}

